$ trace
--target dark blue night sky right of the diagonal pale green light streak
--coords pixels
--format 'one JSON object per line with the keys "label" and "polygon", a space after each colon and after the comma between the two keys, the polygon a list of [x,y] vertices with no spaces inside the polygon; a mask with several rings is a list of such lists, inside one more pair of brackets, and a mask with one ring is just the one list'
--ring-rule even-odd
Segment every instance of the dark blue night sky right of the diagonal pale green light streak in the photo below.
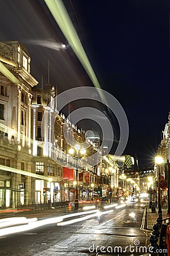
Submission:
{"label": "dark blue night sky right of the diagonal pale green light streak", "polygon": [[86,52],[103,89],[121,103],[125,152],[152,164],[170,110],[169,1],[72,0]]}

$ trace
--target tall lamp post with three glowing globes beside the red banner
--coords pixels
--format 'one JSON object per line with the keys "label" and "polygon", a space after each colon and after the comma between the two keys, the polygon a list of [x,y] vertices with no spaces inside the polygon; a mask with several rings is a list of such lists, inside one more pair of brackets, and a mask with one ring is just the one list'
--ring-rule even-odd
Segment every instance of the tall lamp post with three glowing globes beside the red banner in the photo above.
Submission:
{"label": "tall lamp post with three glowing globes beside the red banner", "polygon": [[[78,158],[78,151],[80,151],[81,155],[84,155],[86,150],[84,148],[80,148],[79,144],[76,144],[74,146],[75,150],[76,150],[76,196],[75,196],[75,205],[74,205],[74,209],[78,210],[78,160],[81,158]],[[69,149],[69,154],[73,155],[74,154],[74,149],[70,148]]]}

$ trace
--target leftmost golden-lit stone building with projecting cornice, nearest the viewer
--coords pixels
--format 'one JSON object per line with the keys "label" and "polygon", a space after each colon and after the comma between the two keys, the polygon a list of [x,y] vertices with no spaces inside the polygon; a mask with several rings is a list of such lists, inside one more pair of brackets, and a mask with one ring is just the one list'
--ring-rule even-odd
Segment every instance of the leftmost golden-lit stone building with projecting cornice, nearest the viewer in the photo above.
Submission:
{"label": "leftmost golden-lit stone building with projecting cornice, nearest the viewer", "polygon": [[[0,43],[0,207],[33,200],[30,56],[19,42]],[[27,171],[28,175],[25,175]]]}

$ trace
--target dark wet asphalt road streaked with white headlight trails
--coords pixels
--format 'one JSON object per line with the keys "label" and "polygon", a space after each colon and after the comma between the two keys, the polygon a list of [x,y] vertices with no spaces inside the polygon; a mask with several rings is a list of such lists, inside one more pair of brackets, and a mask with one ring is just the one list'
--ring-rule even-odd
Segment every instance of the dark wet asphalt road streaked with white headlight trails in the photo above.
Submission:
{"label": "dark wet asphalt road streaked with white headlight trails", "polygon": [[[135,216],[131,213],[135,213]],[[148,245],[150,233],[143,230],[143,213],[144,209],[137,205],[126,205],[123,208],[114,208],[113,212],[91,217],[84,221],[79,219],[78,222],[64,226],[57,226],[56,223],[48,224],[22,233],[6,235],[0,237],[1,255],[146,254],[145,246]],[[34,213],[34,217],[35,214],[38,213]],[[57,213],[58,216],[63,214],[65,213]],[[63,221],[74,220],[87,215],[74,216]],[[44,215],[40,219],[44,219]]]}

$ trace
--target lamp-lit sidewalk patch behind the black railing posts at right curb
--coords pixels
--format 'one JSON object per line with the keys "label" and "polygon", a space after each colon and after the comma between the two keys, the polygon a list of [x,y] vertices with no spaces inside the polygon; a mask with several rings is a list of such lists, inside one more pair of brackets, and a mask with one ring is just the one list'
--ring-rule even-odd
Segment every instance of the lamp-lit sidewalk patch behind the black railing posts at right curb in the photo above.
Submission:
{"label": "lamp-lit sidewalk patch behind the black railing posts at right curb", "polygon": [[[162,209],[163,218],[167,217],[167,209]],[[152,209],[147,208],[147,229],[153,229],[154,224],[156,224],[156,220],[158,218],[158,209],[156,208],[156,212],[152,212]]]}

